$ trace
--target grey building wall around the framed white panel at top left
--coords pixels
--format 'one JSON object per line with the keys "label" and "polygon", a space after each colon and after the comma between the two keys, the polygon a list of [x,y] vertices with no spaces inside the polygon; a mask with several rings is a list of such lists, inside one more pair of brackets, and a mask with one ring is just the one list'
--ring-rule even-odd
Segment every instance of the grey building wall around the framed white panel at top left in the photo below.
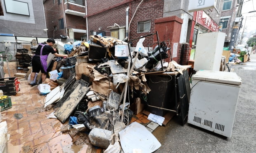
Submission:
{"label": "grey building wall around the framed white panel at top left", "polygon": [[43,30],[45,25],[45,14],[42,0],[19,0],[28,3],[30,16],[7,13],[5,2],[1,0],[4,16],[0,16],[0,32],[10,33],[15,36],[47,37]]}

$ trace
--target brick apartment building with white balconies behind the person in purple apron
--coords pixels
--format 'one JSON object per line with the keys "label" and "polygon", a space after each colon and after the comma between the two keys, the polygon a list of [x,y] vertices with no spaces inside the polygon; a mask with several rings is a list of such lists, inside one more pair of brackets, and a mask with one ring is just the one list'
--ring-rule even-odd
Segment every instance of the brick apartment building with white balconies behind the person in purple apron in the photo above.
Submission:
{"label": "brick apartment building with white balconies behind the person in purple apron", "polygon": [[48,37],[86,39],[84,0],[44,0]]}

